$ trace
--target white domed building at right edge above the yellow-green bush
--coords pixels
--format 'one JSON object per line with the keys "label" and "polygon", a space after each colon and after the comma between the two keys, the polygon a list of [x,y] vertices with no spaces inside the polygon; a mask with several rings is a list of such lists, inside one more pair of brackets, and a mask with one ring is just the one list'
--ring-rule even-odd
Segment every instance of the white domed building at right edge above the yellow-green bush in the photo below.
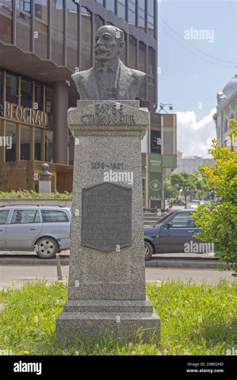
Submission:
{"label": "white domed building at right edge above the yellow-green bush", "polygon": [[216,113],[213,116],[216,125],[216,136],[221,147],[236,149],[236,141],[228,138],[229,119],[237,119],[237,74],[226,83],[223,90],[217,93]]}

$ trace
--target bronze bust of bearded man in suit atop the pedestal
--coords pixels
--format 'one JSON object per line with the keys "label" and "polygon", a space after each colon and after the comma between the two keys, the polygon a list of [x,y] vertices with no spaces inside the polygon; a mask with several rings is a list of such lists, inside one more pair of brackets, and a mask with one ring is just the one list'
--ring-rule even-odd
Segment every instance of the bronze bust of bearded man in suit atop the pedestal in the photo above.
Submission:
{"label": "bronze bust of bearded man in suit atop the pedestal", "polygon": [[119,59],[124,33],[112,26],[100,27],[95,36],[95,65],[72,74],[80,99],[134,100],[145,74],[127,68]]}

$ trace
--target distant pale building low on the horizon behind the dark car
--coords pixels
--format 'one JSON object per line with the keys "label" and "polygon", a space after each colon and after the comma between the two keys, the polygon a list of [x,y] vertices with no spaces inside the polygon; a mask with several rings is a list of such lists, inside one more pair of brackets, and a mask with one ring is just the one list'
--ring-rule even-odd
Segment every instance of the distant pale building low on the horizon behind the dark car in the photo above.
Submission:
{"label": "distant pale building low on the horizon behind the dark car", "polygon": [[201,156],[183,156],[182,152],[177,152],[177,168],[174,173],[186,172],[193,174],[193,170],[198,170],[199,166],[213,166],[215,161],[211,158]]}

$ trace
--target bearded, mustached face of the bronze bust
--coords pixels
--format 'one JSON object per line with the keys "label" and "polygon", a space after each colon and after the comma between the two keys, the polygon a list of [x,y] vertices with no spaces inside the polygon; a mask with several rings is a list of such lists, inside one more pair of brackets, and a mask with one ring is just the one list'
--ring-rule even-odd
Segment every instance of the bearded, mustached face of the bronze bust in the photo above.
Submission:
{"label": "bearded, mustached face of the bronze bust", "polygon": [[94,54],[97,64],[112,63],[124,48],[123,32],[112,26],[100,27],[95,36]]}

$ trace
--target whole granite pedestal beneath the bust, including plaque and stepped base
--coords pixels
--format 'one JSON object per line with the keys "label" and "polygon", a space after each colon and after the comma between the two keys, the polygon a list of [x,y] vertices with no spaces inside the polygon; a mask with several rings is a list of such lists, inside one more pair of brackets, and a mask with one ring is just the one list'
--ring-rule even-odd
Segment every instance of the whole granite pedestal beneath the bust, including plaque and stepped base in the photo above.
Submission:
{"label": "whole granite pedestal beneath the bust, including plaque and stepped base", "polygon": [[149,125],[139,101],[77,101],[67,112],[75,138],[68,300],[57,339],[144,339],[159,317],[145,296],[141,144]]}

